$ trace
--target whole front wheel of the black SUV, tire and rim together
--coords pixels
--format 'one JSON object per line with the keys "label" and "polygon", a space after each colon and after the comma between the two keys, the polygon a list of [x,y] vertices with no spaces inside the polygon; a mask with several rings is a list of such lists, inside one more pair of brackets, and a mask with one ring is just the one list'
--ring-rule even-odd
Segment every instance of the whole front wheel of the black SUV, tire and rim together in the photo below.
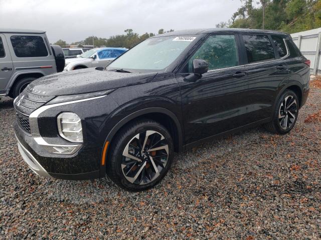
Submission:
{"label": "whole front wheel of the black SUV, tire and rim together", "polygon": [[[145,150],[141,151],[142,147]],[[174,146],[166,127],[141,119],[121,129],[108,152],[108,176],[124,189],[141,191],[164,178],[172,164]]]}

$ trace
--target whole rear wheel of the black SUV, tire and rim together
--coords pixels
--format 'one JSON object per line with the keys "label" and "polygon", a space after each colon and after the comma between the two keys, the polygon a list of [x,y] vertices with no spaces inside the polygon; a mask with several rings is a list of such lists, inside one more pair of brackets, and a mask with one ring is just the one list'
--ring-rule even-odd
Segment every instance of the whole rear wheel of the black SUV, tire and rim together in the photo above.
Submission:
{"label": "whole rear wheel of the black SUV, tire and rim together", "polygon": [[298,97],[294,91],[287,89],[277,100],[272,121],[265,126],[273,133],[286,134],[294,127],[298,113]]}

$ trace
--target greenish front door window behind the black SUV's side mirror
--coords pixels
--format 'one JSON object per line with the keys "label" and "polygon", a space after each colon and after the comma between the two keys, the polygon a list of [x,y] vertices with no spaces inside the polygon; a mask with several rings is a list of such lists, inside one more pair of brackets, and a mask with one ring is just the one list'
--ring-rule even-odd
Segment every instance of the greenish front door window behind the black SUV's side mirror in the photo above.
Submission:
{"label": "greenish front door window behind the black SUV's side mirror", "polygon": [[192,72],[194,59],[206,60],[209,63],[209,70],[237,66],[239,61],[235,35],[209,36],[190,58],[189,72]]}

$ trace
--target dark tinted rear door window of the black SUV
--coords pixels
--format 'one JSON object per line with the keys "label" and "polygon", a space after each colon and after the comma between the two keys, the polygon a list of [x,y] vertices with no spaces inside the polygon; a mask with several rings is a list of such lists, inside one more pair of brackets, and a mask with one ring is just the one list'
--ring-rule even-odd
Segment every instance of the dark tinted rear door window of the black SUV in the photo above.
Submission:
{"label": "dark tinted rear door window of the black SUV", "polygon": [[266,35],[243,35],[248,63],[275,59],[273,46]]}

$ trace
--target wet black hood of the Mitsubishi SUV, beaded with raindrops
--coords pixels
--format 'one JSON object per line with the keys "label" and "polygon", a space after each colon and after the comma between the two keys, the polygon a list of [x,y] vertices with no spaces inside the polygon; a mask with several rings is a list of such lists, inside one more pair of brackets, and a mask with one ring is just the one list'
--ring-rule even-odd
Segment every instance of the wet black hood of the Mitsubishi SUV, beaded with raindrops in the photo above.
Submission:
{"label": "wet black hood of the Mitsubishi SUV, beaded with raindrops", "polygon": [[85,68],[64,71],[34,80],[28,86],[47,96],[80,94],[130,86],[151,81],[157,72],[127,73]]}

